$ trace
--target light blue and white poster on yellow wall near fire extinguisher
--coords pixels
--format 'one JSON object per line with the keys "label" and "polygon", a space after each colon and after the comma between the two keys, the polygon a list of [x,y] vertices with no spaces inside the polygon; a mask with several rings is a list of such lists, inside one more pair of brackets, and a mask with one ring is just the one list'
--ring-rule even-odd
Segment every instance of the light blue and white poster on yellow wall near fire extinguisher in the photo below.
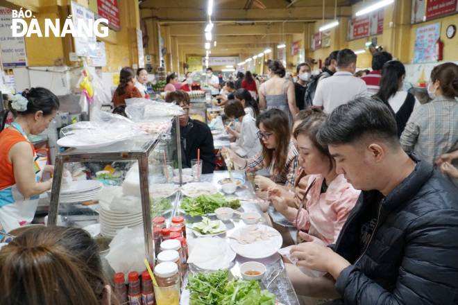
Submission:
{"label": "light blue and white poster on yellow wall near fire extinguisher", "polygon": [[441,23],[428,24],[416,29],[414,64],[436,61],[435,44],[441,36]]}

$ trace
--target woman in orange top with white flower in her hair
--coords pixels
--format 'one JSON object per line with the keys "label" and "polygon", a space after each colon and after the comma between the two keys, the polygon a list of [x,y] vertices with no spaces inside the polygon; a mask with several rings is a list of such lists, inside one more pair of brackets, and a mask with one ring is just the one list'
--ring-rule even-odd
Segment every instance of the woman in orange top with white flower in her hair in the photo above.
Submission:
{"label": "woman in orange top with white flower in her hair", "polygon": [[41,176],[53,166],[40,168],[28,136],[48,128],[58,108],[57,96],[48,89],[37,87],[12,96],[10,110],[16,119],[0,132],[0,236],[30,223],[38,195],[51,189],[51,180],[41,182]]}

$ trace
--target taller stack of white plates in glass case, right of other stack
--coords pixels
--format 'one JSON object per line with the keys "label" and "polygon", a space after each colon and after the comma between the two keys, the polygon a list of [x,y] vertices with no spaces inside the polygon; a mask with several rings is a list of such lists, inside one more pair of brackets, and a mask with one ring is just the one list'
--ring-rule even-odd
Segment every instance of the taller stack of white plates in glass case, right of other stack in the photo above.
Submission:
{"label": "taller stack of white plates in glass case, right of other stack", "polygon": [[114,237],[124,227],[142,225],[142,212],[130,214],[122,211],[110,211],[102,206],[99,209],[100,233],[103,236]]}

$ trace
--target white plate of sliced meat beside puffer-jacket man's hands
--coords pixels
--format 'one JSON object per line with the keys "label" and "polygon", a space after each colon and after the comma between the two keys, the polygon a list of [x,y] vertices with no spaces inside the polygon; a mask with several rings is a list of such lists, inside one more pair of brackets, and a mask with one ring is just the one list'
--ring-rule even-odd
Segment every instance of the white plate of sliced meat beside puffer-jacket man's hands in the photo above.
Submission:
{"label": "white plate of sliced meat beside puffer-jacket man's hands", "polygon": [[231,249],[247,259],[265,259],[278,252],[283,243],[280,232],[266,225],[239,227],[229,238]]}

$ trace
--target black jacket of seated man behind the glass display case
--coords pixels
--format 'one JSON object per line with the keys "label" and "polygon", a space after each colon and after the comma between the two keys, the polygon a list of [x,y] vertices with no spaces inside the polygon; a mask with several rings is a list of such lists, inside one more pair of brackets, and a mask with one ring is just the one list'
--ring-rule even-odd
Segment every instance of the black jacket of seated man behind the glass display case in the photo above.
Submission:
{"label": "black jacket of seated man behind the glass display case", "polygon": [[183,168],[191,167],[191,160],[197,159],[197,149],[200,148],[203,161],[202,173],[213,173],[217,158],[214,155],[212,132],[207,124],[189,119],[187,127],[180,128],[180,132]]}

